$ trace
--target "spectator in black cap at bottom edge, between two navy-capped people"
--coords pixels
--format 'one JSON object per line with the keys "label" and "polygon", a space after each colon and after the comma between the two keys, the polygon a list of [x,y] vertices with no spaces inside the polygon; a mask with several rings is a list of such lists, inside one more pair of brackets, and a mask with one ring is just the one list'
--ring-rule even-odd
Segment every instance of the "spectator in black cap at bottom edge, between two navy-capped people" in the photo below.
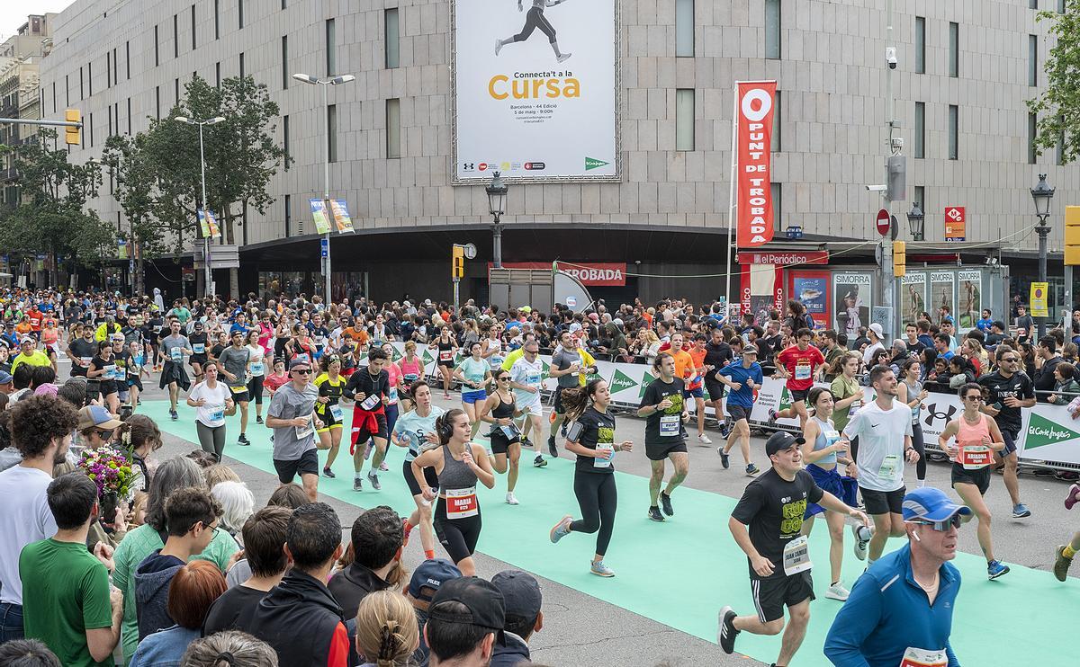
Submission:
{"label": "spectator in black cap at bottom edge, between two navy-capped people", "polygon": [[423,628],[431,649],[429,664],[489,665],[495,644],[507,643],[502,629],[505,625],[505,603],[495,584],[469,574],[443,582],[428,607],[428,625]]}

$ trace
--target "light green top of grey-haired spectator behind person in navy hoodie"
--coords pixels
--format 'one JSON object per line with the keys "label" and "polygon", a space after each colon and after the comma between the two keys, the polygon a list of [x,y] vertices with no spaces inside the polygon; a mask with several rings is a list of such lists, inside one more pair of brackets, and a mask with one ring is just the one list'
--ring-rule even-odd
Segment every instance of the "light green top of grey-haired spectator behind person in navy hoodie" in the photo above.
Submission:
{"label": "light green top of grey-haired spectator behind person in navy hoodie", "polygon": [[[165,546],[151,526],[144,523],[129,532],[112,561],[117,564],[112,572],[112,583],[124,593],[124,621],[120,624],[120,643],[124,649],[124,664],[131,662],[138,648],[138,616],[135,613],[135,570],[154,549]],[[219,530],[206,550],[192,560],[208,560],[225,572],[232,555],[240,550],[237,541],[227,531]]]}

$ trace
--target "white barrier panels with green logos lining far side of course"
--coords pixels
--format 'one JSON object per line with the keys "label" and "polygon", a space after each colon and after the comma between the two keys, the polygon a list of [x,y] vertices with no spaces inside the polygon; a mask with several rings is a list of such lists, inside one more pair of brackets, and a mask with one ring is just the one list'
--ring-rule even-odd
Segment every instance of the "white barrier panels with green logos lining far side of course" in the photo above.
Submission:
{"label": "white barrier panels with green logos lining far side of course", "polygon": [[[404,354],[404,343],[392,343],[395,360]],[[438,370],[435,356],[427,349],[419,350],[424,360],[424,373],[437,377]],[[544,366],[543,389],[553,392],[557,385],[554,378],[548,377],[551,364],[550,355],[540,355]],[[455,362],[460,360],[460,357]],[[363,359],[361,363],[365,363]],[[611,401],[620,408],[636,409],[640,404],[645,389],[653,380],[651,368],[645,364],[625,364],[616,362],[597,362],[597,372],[591,378],[603,378],[611,387]],[[819,386],[828,386],[818,383]],[[874,400],[874,390],[863,387],[865,401]],[[707,400],[707,396],[706,396]],[[782,410],[791,405],[789,394],[783,381],[766,378],[757,392],[754,410],[751,412],[751,423],[762,428],[778,426],[796,430],[798,419],[769,420],[769,410]],[[926,448],[937,449],[937,436],[945,424],[956,419],[963,411],[960,397],[956,394],[932,392],[919,410],[919,423],[922,425]],[[1055,469],[1080,469],[1080,419],[1074,419],[1065,406],[1036,404],[1023,412],[1023,424],[1016,441],[1022,462],[1044,465]],[[712,405],[706,403],[705,413],[714,416]]]}

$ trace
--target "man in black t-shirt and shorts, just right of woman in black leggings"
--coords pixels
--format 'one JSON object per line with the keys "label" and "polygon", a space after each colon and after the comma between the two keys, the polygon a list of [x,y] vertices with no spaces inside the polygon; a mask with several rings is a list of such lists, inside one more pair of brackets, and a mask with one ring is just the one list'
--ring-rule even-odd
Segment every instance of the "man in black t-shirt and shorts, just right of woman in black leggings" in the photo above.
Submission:
{"label": "man in black t-shirt and shorts, just right of woman in black leggings", "polygon": [[[686,479],[690,467],[681,434],[683,424],[690,421],[690,413],[686,411],[683,399],[683,380],[675,377],[675,358],[661,352],[652,362],[652,372],[657,379],[645,390],[637,416],[646,418],[645,455],[651,466],[648,516],[653,521],[663,521],[664,516],[657,507],[657,499],[659,496],[663,504],[664,514],[675,516],[671,494]],[[671,459],[675,471],[667,480],[667,487],[661,491],[664,461],[667,459]]]}

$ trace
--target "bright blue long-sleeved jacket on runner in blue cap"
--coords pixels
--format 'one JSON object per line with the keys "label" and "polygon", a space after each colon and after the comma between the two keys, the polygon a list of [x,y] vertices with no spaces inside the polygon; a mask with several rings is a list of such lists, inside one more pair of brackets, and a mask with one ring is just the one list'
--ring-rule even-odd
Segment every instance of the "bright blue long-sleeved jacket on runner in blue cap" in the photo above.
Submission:
{"label": "bright blue long-sleeved jacket on runner in blue cap", "polygon": [[825,638],[825,657],[836,667],[895,667],[908,646],[944,649],[949,667],[960,667],[948,642],[959,591],[960,571],[943,563],[930,605],[912,575],[912,546],[905,544],[855,582]]}

